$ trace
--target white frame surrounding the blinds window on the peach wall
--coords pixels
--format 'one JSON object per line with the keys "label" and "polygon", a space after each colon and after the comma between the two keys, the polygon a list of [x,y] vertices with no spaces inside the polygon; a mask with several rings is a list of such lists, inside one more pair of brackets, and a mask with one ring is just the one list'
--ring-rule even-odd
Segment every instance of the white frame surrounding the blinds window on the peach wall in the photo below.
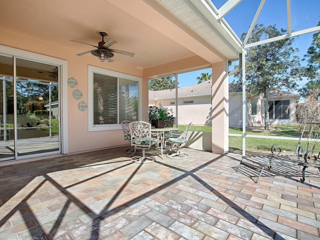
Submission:
{"label": "white frame surrounding the blinds window on the peach wall", "polygon": [[93,102],[93,73],[104,74],[108,76],[113,76],[117,78],[117,97],[118,97],[118,85],[119,79],[118,78],[125,78],[128,80],[133,80],[138,83],[138,119],[141,119],[142,111],[142,97],[141,97],[141,82],[142,78],[138,76],[129,75],[122,72],[112,71],[96,66],[88,65],[88,131],[105,131],[105,130],[118,130],[121,129],[121,124],[101,124],[101,125],[94,125],[93,124],[93,110],[94,110],[94,102]]}

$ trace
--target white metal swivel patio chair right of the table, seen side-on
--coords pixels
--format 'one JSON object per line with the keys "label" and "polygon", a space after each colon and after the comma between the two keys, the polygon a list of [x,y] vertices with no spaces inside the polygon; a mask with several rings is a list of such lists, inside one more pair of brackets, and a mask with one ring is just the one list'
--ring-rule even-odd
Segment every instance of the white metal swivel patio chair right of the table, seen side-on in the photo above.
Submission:
{"label": "white metal swivel patio chair right of the table, seen side-on", "polygon": [[189,154],[180,151],[180,147],[184,146],[184,144],[188,141],[187,134],[191,123],[192,122],[186,125],[184,131],[171,132],[170,135],[166,137],[165,145],[166,147],[169,147],[171,151],[173,151],[173,153],[167,153],[167,157],[175,159],[183,159],[189,157]]}

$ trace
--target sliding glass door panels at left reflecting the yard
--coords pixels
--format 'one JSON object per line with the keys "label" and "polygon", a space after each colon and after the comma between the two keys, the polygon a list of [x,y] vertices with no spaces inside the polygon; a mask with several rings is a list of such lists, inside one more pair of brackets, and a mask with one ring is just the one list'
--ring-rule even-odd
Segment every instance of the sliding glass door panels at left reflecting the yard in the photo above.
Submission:
{"label": "sliding glass door panels at left reflecting the yard", "polygon": [[3,57],[0,160],[60,153],[58,67],[17,58],[14,81],[1,74]]}

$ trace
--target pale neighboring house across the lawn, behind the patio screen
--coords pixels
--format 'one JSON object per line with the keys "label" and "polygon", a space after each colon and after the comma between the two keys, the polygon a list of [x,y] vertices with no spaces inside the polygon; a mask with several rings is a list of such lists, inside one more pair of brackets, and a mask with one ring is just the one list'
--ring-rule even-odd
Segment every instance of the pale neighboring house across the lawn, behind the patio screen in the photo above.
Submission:
{"label": "pale neighboring house across the lawn, behind the patio screen", "polygon": [[[212,125],[211,123],[211,80],[192,86],[179,87],[178,123],[187,124],[192,121],[196,125]],[[270,124],[294,124],[295,104],[299,94],[279,92],[269,94]],[[176,116],[175,89],[149,91],[149,105],[161,104],[172,110]],[[229,87],[229,126],[242,125],[242,92],[241,89]],[[246,101],[246,125],[264,125],[264,105],[261,95]],[[213,104],[213,103],[212,103]]]}

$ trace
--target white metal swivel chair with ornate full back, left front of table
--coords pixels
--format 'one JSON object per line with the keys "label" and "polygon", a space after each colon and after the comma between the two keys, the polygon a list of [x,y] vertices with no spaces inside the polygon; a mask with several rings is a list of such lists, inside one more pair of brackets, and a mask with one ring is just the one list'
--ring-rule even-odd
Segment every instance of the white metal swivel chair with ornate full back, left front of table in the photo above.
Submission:
{"label": "white metal swivel chair with ornate full back, left front of table", "polygon": [[157,138],[151,137],[151,124],[145,121],[132,121],[129,123],[131,134],[131,146],[142,151],[142,156],[133,156],[132,162],[148,163],[155,161],[154,156],[145,155],[145,150],[157,142]]}

